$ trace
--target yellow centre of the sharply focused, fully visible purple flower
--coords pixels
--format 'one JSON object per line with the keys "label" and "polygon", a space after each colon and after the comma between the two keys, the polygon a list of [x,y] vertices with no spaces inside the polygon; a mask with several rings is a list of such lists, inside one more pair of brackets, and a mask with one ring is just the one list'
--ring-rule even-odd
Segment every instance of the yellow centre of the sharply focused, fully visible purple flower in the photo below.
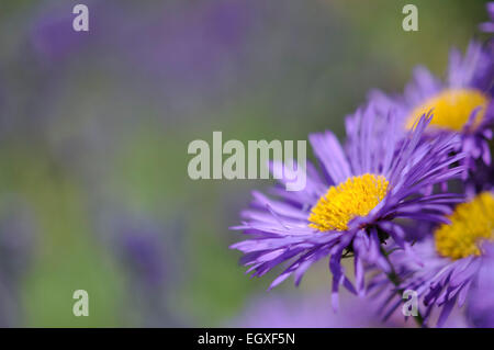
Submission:
{"label": "yellow centre of the sharply focused, fully visible purple flower", "polygon": [[384,199],[388,185],[383,176],[366,173],[330,187],[312,208],[308,226],[321,232],[348,229],[353,217],[369,214]]}

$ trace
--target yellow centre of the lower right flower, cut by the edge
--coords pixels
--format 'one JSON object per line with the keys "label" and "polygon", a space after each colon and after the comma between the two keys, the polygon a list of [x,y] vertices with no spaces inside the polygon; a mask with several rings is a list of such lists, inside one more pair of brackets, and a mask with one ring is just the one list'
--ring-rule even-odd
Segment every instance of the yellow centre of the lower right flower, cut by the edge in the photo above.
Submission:
{"label": "yellow centre of the lower right flower, cut by the edge", "polygon": [[480,256],[483,240],[494,241],[494,196],[483,192],[472,201],[457,205],[450,224],[435,232],[436,250],[453,260]]}

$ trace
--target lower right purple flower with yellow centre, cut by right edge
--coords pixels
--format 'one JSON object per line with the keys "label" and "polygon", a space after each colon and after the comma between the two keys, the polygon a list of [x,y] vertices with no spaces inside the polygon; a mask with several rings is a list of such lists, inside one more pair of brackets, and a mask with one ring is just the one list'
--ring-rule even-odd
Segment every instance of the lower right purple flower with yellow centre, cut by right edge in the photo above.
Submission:
{"label": "lower right purple flower with yellow centre, cut by right edge", "polygon": [[[482,192],[468,202],[456,206],[449,223],[438,226],[429,236],[414,246],[422,266],[414,267],[403,251],[395,251],[390,260],[401,276],[397,290],[417,293],[424,308],[424,325],[430,324],[431,315],[440,308],[437,326],[441,327],[456,305],[470,300],[472,285],[482,282],[481,271],[492,266],[494,247],[494,195]],[[489,269],[487,269],[489,270]],[[492,274],[492,270],[489,270]],[[382,274],[370,289],[389,284]],[[482,284],[482,283],[481,283]],[[490,293],[493,293],[491,290]],[[384,318],[402,303],[390,295]],[[482,302],[481,302],[482,303]]]}

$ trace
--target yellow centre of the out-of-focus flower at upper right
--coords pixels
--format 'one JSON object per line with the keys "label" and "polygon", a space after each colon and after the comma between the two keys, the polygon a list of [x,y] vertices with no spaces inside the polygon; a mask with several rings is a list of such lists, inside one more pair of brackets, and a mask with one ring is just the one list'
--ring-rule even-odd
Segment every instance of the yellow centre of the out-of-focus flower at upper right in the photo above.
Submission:
{"label": "yellow centre of the out-of-focus flower at upper right", "polygon": [[480,108],[472,125],[475,128],[483,120],[487,104],[489,98],[479,90],[446,90],[414,109],[407,118],[406,127],[412,128],[420,115],[434,109],[429,126],[459,132],[469,121],[473,110]]}

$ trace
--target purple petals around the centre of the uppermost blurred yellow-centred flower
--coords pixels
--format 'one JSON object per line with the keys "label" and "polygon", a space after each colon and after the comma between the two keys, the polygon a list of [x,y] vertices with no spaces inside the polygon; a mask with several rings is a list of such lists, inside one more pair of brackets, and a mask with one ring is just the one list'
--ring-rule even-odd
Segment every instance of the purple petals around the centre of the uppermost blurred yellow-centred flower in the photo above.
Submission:
{"label": "purple petals around the centre of the uppermost blurred yellow-centred flower", "polygon": [[[461,143],[459,151],[467,157],[463,163],[475,169],[475,160],[491,163],[489,142],[492,138],[494,123],[494,50],[492,45],[470,42],[464,55],[458,49],[451,49],[445,81],[435,77],[426,67],[418,66],[413,71],[412,81],[405,87],[403,94],[388,95],[380,90],[369,93],[369,99],[379,105],[379,114],[396,111],[402,124],[402,132],[406,129],[406,122],[415,108],[424,104],[434,97],[448,90],[469,90],[484,94],[489,101],[483,111],[482,120],[478,121],[481,108],[472,109],[467,123],[459,134]],[[434,110],[433,110],[434,113]],[[428,137],[437,134],[457,133],[442,128],[429,128]]]}

